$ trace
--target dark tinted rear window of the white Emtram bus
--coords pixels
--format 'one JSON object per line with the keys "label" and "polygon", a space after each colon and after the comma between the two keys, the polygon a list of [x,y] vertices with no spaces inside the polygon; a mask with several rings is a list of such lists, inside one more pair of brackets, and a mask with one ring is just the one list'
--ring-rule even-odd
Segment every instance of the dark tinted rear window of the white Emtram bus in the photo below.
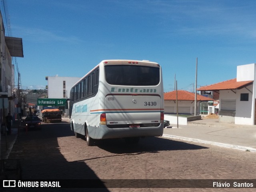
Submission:
{"label": "dark tinted rear window of the white Emtram bus", "polygon": [[154,86],[160,82],[160,68],[136,65],[106,65],[106,82],[111,85]]}

